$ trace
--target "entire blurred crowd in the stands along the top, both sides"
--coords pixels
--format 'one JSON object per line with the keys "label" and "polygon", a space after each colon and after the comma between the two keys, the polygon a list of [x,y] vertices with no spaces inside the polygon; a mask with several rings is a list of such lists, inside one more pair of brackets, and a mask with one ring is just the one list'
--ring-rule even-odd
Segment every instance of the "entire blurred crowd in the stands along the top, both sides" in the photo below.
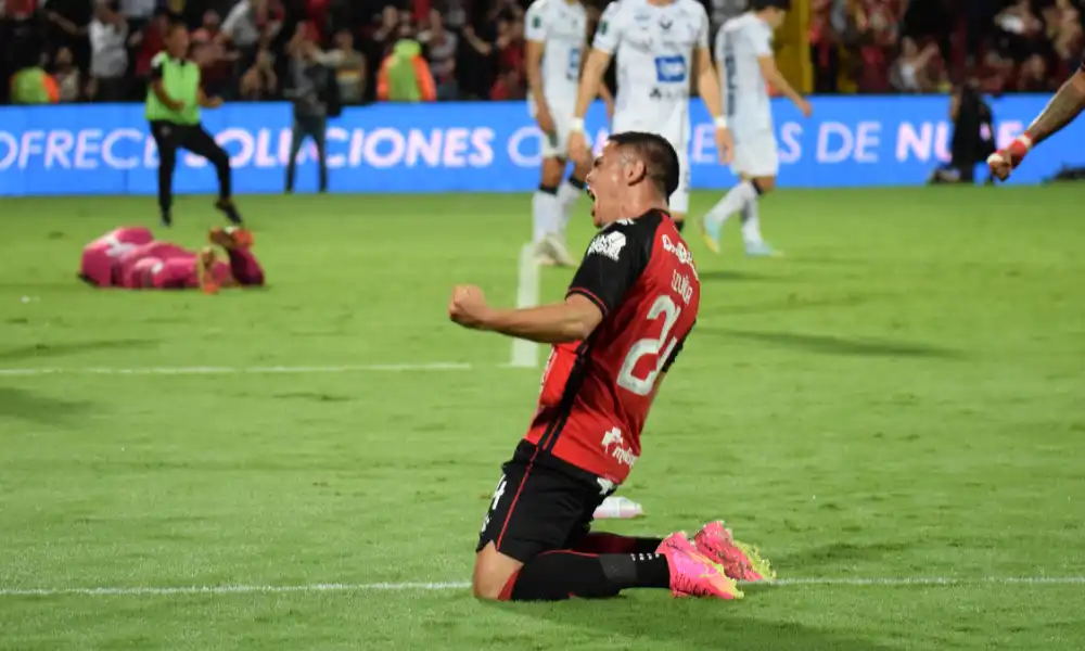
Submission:
{"label": "entire blurred crowd in the stands along the top, both sides", "polygon": [[[745,0],[702,0],[713,28]],[[813,90],[931,93],[973,80],[1045,92],[1080,61],[1081,0],[794,0],[809,3]],[[411,62],[421,101],[526,91],[527,0],[0,0],[0,103],[140,101],[170,17],[192,28],[208,94],[289,97],[292,56],[334,62],[344,104],[403,99],[388,62]],[[598,21],[605,0],[587,2]],[[301,46],[299,46],[301,43]],[[40,89],[44,88],[44,91]]]}

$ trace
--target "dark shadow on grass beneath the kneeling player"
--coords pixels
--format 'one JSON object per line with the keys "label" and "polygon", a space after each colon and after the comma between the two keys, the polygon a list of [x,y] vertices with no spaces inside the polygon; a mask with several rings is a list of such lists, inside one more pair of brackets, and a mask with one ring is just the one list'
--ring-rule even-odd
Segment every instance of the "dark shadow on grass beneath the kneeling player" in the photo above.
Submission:
{"label": "dark shadow on grass beneath the kneeling player", "polygon": [[[735,603],[714,599],[675,601],[663,590],[652,590],[658,595],[593,602],[501,604],[499,608],[551,624],[597,631],[603,638],[623,638],[624,646],[615,647],[615,640],[609,639],[607,648],[651,649],[655,644],[669,643],[705,651],[888,651],[888,647],[844,633],[753,618],[746,608],[749,601],[766,599],[770,590],[749,590],[743,601]],[[786,616],[787,613],[780,613],[781,618]]]}

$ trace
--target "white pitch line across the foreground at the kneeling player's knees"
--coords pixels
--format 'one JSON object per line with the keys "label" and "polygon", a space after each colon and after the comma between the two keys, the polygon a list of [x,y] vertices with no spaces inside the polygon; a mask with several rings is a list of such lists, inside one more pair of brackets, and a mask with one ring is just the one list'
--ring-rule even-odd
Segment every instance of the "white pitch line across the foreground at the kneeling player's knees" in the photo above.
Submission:
{"label": "white pitch line across the foreground at the kneeling player's knees", "polygon": [[[833,578],[806,577],[781,578],[774,582],[774,588],[788,587],[939,587],[939,586],[1071,586],[1085,585],[1085,576],[912,576],[898,578]],[[177,587],[92,587],[92,588],[0,588],[2,597],[138,597],[183,596],[183,595],[281,595],[289,592],[376,592],[376,591],[439,591],[465,590],[467,582],[409,582],[369,584],[306,584],[297,586],[221,585],[221,586],[177,586]]]}

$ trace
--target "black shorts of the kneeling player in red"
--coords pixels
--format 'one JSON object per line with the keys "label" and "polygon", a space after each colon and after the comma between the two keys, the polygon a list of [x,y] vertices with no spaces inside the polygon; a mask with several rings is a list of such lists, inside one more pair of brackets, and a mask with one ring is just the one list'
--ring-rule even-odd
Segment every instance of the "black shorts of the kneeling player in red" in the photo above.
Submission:
{"label": "black shorts of the kneeling player in red", "polygon": [[505,556],[526,563],[545,551],[574,547],[613,489],[604,493],[598,482],[578,476],[583,471],[562,465],[558,459],[536,458],[535,446],[522,441],[501,467],[475,552],[494,542]]}

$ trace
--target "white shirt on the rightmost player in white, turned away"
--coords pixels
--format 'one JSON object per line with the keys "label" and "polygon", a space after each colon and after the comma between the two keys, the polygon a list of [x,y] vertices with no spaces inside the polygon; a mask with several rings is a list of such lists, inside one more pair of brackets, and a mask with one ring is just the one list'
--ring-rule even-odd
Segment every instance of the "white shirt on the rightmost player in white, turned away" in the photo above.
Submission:
{"label": "white shirt on the rightmost player in white, turned away", "polygon": [[757,61],[771,55],[773,28],[753,13],[724,23],[716,35],[724,114],[737,132],[773,128],[768,86]]}

